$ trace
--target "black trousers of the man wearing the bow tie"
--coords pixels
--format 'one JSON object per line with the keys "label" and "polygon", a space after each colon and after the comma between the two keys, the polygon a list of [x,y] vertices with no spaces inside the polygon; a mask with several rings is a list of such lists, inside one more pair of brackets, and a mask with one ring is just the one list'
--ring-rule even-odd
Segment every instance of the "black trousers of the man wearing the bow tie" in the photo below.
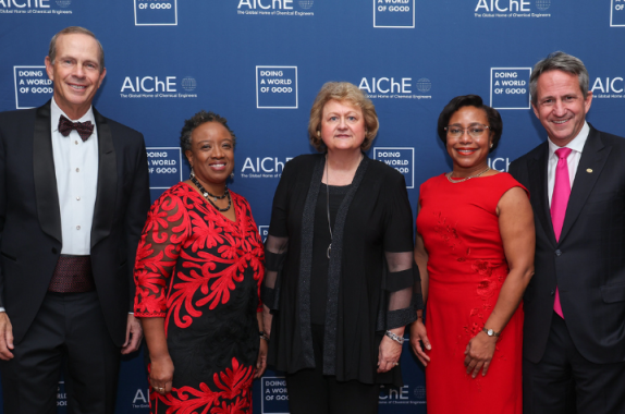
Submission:
{"label": "black trousers of the man wearing the bow tie", "polygon": [[48,292],[13,355],[0,364],[5,413],[56,413],[61,366],[68,413],[114,412],[120,349],[95,291]]}

